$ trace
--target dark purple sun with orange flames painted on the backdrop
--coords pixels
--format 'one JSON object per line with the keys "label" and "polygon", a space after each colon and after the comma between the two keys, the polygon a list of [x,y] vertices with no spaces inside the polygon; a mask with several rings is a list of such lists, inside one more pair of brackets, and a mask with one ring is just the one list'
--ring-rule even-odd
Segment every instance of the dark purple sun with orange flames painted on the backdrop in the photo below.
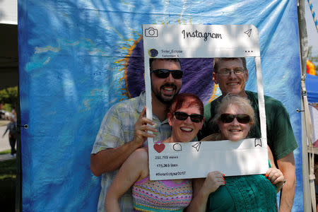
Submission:
{"label": "dark purple sun with orange flames painted on the backdrop", "polygon": [[[127,44],[129,47],[122,47],[126,56],[114,61],[115,64],[122,66],[119,71],[124,71],[119,83],[123,85],[122,95],[126,98],[135,98],[145,90],[143,40],[141,33],[135,33],[137,39],[127,40],[134,42],[131,45]],[[170,47],[165,48],[170,49]],[[145,53],[148,53],[149,57],[157,57],[158,50],[160,51],[160,49],[149,49]],[[180,58],[180,63],[184,71],[180,93],[198,95],[204,104],[218,97],[216,95],[218,86],[212,80],[213,58]]]}

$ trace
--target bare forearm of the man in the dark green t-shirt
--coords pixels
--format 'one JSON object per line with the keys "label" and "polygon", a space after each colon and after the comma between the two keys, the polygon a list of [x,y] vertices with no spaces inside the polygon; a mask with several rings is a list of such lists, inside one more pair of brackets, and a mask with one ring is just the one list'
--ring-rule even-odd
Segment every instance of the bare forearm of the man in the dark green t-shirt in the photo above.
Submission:
{"label": "bare forearm of the man in the dark green t-shirt", "polygon": [[277,160],[277,165],[286,179],[286,183],[281,190],[279,211],[291,211],[296,187],[295,159],[293,152],[289,153],[284,158]]}

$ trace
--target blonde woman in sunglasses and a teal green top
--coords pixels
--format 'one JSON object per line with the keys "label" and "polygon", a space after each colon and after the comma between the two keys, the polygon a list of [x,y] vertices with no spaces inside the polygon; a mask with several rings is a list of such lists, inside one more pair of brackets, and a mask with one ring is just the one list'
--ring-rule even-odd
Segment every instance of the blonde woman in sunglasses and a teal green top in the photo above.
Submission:
{"label": "blonde woman in sunglasses and a teal green top", "polygon": [[[223,98],[214,119],[220,133],[201,141],[239,141],[245,139],[254,122],[254,110],[249,100],[236,95]],[[269,170],[266,175],[225,177],[218,171],[209,172],[206,179],[194,179],[192,202],[187,211],[276,211],[276,192],[285,179],[273,164],[269,150]]]}

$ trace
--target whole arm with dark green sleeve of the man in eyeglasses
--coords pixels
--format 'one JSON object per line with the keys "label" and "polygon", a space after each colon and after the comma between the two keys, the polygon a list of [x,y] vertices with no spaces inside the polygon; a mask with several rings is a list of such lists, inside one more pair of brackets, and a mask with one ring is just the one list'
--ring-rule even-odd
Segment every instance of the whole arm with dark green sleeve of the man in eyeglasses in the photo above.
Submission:
{"label": "whole arm with dark green sleeve of the man in eyeglasses", "polygon": [[[267,139],[273,151],[278,169],[283,172],[286,179],[281,190],[279,211],[290,211],[295,196],[295,159],[293,151],[298,147],[290,124],[288,111],[283,104],[273,98],[265,97],[266,126],[269,134]],[[287,153],[287,155],[286,155]],[[281,157],[283,155],[283,158]]]}

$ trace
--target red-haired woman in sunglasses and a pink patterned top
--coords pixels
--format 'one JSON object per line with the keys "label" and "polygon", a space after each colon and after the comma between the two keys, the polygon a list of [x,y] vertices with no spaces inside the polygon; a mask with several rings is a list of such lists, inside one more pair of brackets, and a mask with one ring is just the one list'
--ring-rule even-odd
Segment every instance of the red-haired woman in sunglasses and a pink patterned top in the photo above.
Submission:
{"label": "red-haired woman in sunglasses and a pink patterned top", "polygon": [[[204,122],[199,97],[182,93],[173,100],[168,122],[172,135],[162,143],[192,141]],[[183,211],[192,199],[192,180],[149,180],[148,149],[139,148],[120,167],[105,197],[106,211],[120,211],[119,198],[132,186],[134,211]]]}

